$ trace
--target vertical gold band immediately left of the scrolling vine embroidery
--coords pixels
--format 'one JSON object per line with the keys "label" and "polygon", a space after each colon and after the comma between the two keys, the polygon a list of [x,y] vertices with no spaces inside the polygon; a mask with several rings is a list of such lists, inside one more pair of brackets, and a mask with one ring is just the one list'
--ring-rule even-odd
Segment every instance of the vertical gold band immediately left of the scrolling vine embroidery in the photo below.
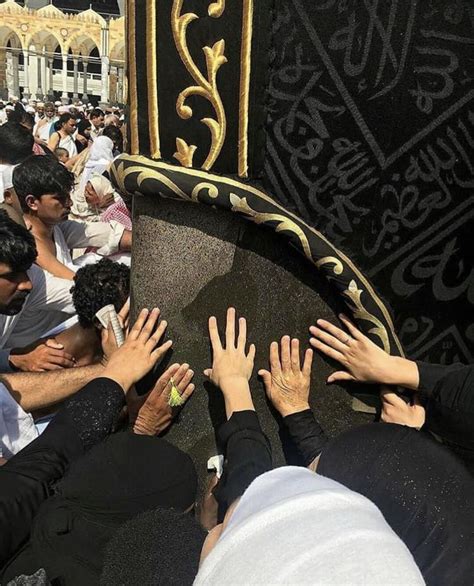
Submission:
{"label": "vertical gold band immediately left of the scrolling vine embroidery", "polygon": [[156,51],[156,0],[146,0],[146,66],[148,88],[148,120],[150,122],[150,154],[153,159],[161,157],[158,121],[158,87]]}

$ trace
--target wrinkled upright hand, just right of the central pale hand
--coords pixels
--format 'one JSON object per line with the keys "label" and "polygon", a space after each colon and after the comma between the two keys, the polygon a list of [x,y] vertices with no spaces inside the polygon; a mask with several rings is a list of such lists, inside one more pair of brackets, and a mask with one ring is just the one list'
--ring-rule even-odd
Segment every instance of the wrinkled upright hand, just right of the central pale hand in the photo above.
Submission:
{"label": "wrinkled upright hand, just right of the central pale hand", "polygon": [[309,387],[313,351],[305,352],[303,368],[300,366],[300,343],[290,336],[281,339],[281,358],[278,342],[270,345],[270,372],[259,370],[267,397],[282,417],[309,409]]}

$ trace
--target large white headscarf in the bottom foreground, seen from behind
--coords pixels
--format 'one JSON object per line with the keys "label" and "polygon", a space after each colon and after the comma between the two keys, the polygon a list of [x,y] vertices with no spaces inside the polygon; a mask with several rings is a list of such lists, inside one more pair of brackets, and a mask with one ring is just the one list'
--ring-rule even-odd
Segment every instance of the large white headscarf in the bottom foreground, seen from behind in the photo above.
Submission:
{"label": "large white headscarf in the bottom foreground, seen from behind", "polygon": [[249,486],[195,586],[420,585],[411,553],[364,496],[285,466]]}

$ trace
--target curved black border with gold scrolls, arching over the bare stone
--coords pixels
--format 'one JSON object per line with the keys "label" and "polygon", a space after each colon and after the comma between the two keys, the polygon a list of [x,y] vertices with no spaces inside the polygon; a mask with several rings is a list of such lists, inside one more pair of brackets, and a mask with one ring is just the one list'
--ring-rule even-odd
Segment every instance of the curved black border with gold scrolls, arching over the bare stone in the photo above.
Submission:
{"label": "curved black border with gold scrolls, arching over the bare stone", "polygon": [[386,352],[404,355],[390,312],[367,277],[321,232],[286,210],[264,191],[229,177],[140,156],[122,155],[114,161],[111,175],[123,193],[216,206],[285,235],[328,279],[361,330]]}

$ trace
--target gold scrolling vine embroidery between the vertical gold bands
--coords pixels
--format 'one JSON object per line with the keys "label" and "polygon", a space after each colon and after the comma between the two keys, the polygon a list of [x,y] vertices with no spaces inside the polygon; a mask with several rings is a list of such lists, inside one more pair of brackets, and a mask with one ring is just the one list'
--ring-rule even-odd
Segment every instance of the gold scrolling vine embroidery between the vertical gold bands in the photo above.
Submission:
{"label": "gold scrolling vine embroidery between the vertical gold bands", "polygon": [[[207,77],[204,77],[202,72],[197,67],[191,53],[189,52],[188,44],[186,41],[187,28],[189,24],[199,18],[194,12],[186,12],[181,14],[183,7],[183,0],[174,0],[173,7],[171,10],[171,29],[173,31],[173,38],[178,50],[179,56],[184,63],[186,69],[194,79],[196,85],[191,85],[185,88],[179,93],[176,101],[176,111],[178,116],[183,120],[187,120],[192,117],[193,111],[190,106],[186,104],[186,100],[190,96],[200,96],[210,102],[216,118],[202,118],[201,122],[205,124],[211,133],[211,147],[206,160],[202,164],[202,168],[209,170],[215,163],[219,153],[221,152],[226,136],[226,115],[224,106],[217,89],[217,72],[219,68],[227,62],[227,58],[224,55],[225,41],[220,39],[212,47],[203,47],[203,53],[206,59]],[[217,0],[212,2],[208,7],[208,14],[212,18],[219,18],[225,10],[225,0]],[[188,146],[186,141],[182,138],[179,139],[181,142],[181,151],[177,144],[177,160],[181,163],[185,160],[189,166],[192,165],[192,160],[196,148],[194,145]],[[186,151],[186,156],[183,157],[182,153]],[[175,153],[176,156],[176,153]]]}

